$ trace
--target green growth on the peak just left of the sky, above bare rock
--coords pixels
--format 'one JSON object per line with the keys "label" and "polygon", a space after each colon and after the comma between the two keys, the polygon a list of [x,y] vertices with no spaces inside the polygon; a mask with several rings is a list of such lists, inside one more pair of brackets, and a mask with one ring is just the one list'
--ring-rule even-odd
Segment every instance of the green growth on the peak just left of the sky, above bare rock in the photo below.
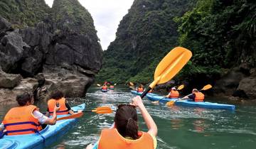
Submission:
{"label": "green growth on the peak just left of the sky, above bare rock", "polygon": [[55,0],[53,20],[56,23],[55,30],[68,30],[97,38],[92,16],[78,0]]}

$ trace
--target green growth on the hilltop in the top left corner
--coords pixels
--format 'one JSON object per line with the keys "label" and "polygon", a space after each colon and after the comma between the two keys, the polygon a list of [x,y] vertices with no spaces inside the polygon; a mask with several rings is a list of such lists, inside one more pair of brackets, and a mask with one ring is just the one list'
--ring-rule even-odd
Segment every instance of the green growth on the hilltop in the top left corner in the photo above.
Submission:
{"label": "green growth on the hilltop in the top left corner", "polygon": [[50,7],[44,0],[1,0],[0,16],[12,23],[14,28],[34,26],[50,15]]}

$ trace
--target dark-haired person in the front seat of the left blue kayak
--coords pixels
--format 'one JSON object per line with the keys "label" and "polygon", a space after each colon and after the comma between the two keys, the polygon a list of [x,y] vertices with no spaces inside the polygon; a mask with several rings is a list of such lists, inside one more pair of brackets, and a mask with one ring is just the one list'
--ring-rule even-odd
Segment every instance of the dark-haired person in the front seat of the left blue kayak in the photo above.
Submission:
{"label": "dark-haired person in the front seat of the left blue kayak", "polygon": [[46,116],[53,114],[53,109],[57,105],[60,107],[60,110],[57,111],[57,115],[64,114],[75,114],[70,108],[70,105],[66,103],[63,92],[56,91],[50,95],[50,100],[48,100],[48,109],[46,111]]}

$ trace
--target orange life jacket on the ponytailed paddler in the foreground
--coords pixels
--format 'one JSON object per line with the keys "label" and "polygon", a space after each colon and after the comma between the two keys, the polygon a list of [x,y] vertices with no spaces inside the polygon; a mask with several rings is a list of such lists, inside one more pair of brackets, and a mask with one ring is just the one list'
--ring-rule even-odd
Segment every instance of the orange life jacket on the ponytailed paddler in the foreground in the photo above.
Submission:
{"label": "orange life jacket on the ponytailed paddler in the foreground", "polygon": [[154,149],[154,140],[149,133],[142,132],[137,140],[122,137],[116,128],[103,129],[98,149]]}

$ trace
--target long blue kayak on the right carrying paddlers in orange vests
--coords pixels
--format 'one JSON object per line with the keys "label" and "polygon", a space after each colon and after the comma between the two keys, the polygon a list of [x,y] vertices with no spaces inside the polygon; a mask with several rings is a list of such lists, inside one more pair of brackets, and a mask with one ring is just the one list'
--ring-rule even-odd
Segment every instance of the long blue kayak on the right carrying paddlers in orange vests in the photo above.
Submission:
{"label": "long blue kayak on the right carrying paddlers in orange vests", "polygon": [[[160,102],[168,102],[168,101],[176,101],[177,100],[177,99],[169,99],[166,97],[164,98],[164,96],[159,96],[159,95],[152,96],[150,94],[146,94],[146,97],[151,101],[159,101],[160,99],[162,99]],[[182,101],[176,101],[175,105],[194,106],[194,107],[202,107],[202,108],[208,108],[208,109],[235,110],[235,105],[232,105],[232,104],[218,104],[218,103],[213,103],[213,102],[208,102],[208,101],[195,102],[195,101],[191,101],[189,99],[182,100]]]}

